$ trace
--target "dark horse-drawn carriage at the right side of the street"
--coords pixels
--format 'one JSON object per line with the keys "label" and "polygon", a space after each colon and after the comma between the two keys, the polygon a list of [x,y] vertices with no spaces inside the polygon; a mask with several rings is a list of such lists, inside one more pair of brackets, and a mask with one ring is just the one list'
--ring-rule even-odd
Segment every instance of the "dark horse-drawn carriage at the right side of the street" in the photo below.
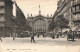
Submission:
{"label": "dark horse-drawn carriage at the right side of the street", "polygon": [[67,34],[67,40],[74,40],[76,38],[80,38],[80,29],[75,28],[74,30],[70,29]]}

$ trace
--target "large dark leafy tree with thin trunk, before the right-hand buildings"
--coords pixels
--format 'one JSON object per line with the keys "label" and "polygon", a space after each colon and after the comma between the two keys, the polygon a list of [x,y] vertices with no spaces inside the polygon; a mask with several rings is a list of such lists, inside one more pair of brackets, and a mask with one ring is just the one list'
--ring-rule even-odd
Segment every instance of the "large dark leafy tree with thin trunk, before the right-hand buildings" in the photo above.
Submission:
{"label": "large dark leafy tree with thin trunk, before the right-hand buildings", "polygon": [[58,16],[56,23],[61,28],[61,34],[62,34],[62,29],[63,28],[69,28],[69,26],[68,26],[69,22],[68,22],[68,20],[66,20],[64,18],[63,15]]}

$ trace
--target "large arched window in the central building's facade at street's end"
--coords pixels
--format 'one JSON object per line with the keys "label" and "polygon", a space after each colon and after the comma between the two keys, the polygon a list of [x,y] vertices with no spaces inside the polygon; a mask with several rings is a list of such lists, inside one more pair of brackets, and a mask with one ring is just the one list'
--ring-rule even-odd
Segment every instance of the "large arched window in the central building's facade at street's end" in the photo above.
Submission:
{"label": "large arched window in the central building's facade at street's end", "polygon": [[47,28],[47,23],[42,18],[36,19],[33,23],[33,29],[38,30],[38,32],[42,32],[43,30],[46,30],[46,28]]}

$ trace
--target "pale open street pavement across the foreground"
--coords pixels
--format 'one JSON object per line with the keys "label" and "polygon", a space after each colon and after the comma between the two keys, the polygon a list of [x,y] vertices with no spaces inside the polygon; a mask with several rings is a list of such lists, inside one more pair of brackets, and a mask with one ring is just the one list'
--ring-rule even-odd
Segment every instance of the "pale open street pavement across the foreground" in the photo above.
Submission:
{"label": "pale open street pavement across the foreground", "polygon": [[35,37],[35,43],[31,43],[30,37],[2,38],[0,52],[80,52],[80,39],[67,41],[66,38],[52,39],[50,37]]}

